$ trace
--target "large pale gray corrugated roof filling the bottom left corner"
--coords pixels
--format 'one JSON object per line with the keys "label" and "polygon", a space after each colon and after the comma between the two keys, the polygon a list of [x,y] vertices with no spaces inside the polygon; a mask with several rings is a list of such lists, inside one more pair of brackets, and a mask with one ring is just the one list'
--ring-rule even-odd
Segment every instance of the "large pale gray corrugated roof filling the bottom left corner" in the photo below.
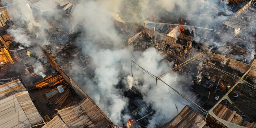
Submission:
{"label": "large pale gray corrugated roof filling the bottom left corner", "polygon": [[0,128],[28,128],[43,121],[28,91],[0,100]]}

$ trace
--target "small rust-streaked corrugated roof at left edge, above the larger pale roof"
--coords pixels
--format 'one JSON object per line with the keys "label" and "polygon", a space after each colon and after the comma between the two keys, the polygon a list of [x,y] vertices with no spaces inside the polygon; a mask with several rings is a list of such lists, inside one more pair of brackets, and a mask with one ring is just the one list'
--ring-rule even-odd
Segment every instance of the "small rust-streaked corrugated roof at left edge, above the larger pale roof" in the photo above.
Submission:
{"label": "small rust-streaked corrugated roof at left edge, above the larger pale roof", "polygon": [[20,80],[11,81],[0,85],[0,99],[22,91],[26,91],[26,88],[22,85]]}

